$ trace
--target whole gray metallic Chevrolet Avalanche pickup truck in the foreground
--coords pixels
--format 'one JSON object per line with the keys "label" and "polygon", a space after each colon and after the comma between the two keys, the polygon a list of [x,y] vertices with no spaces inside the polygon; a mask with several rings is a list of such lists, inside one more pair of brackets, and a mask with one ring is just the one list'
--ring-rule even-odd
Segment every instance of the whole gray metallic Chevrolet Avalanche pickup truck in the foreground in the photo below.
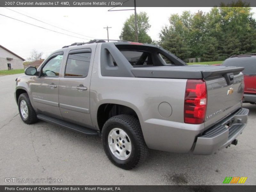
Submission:
{"label": "whole gray metallic Chevrolet Avalanche pickup truck in the foreground", "polygon": [[243,69],[188,66],[159,46],[94,40],[26,68],[14,96],[25,123],[98,134],[110,161],[132,169],[148,148],[209,155],[236,145],[249,113]]}

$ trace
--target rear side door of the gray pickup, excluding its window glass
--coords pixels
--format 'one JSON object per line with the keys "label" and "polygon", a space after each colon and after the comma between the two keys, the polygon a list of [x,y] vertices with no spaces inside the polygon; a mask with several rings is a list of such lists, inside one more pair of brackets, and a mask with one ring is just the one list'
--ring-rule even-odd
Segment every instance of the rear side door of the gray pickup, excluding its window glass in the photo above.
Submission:
{"label": "rear side door of the gray pickup, excluding its window glass", "polygon": [[[91,52],[90,63],[93,63],[96,44],[84,46],[83,48],[66,48],[63,60],[66,61],[69,53]],[[90,81],[92,65],[89,66],[88,75],[85,77],[65,77],[65,68],[61,68],[59,84],[59,106],[63,120],[91,128],[90,115]],[[84,86],[87,90],[78,90],[77,86]]]}

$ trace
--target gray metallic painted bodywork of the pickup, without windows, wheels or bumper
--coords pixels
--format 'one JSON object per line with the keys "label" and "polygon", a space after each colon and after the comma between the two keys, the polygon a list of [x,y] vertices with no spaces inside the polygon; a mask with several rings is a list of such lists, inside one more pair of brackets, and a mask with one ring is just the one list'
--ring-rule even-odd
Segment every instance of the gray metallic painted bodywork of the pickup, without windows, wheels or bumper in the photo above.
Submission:
{"label": "gray metallic painted bodywork of the pickup, without windows, wheels or bumper", "polygon": [[[18,78],[16,90],[24,89],[28,92],[32,106],[38,113],[55,116],[98,131],[100,128],[97,113],[102,104],[118,104],[132,108],[139,118],[148,148],[178,153],[192,152],[195,149],[198,136],[224,118],[235,118],[232,114],[242,106],[243,75],[239,73],[241,68],[233,68],[236,74],[234,74],[234,83],[231,85],[228,85],[225,78],[219,76],[220,74],[215,73],[215,76],[212,76],[213,73],[210,75],[208,73],[207,79],[205,79],[208,92],[205,122],[203,124],[185,124],[184,96],[188,78],[203,78],[202,70],[219,72],[224,67],[163,66],[143,69],[126,67],[125,70],[131,69],[130,73],[124,73],[123,76],[111,76],[112,72],[106,71],[112,70],[112,68],[107,66],[103,69],[105,70],[104,76],[101,72],[103,62],[101,54],[106,47],[112,47],[110,49],[116,51],[113,43],[85,44],[60,49],[57,52],[63,51],[64,54],[60,75],[55,78],[59,81],[55,83],[58,85],[57,89],[49,88],[52,78],[22,76]],[[68,52],[75,49],[90,49],[92,52],[89,73],[84,78],[64,77]],[[120,52],[119,54],[121,62],[125,58]],[[182,61],[178,61],[181,65]],[[38,70],[44,66],[44,63]],[[189,73],[191,68],[196,69],[194,73]],[[184,74],[175,75],[175,69],[182,69]],[[152,70],[156,75],[153,76],[154,78],[150,76]],[[230,72],[231,67],[225,68],[225,70]],[[173,74],[173,77],[170,74]],[[40,82],[39,79],[44,79],[44,81]],[[80,84],[86,86],[87,90],[77,90],[76,86]],[[231,87],[235,90],[235,94],[227,95],[227,91]],[[45,101],[38,102],[38,99]],[[213,116],[212,114],[216,111],[220,112]],[[166,115],[169,113],[170,115]],[[209,116],[210,118],[207,118]],[[246,124],[246,121],[247,119],[243,121],[243,124]],[[226,142],[228,145],[228,138]],[[201,149],[197,147],[195,154],[200,154],[200,150],[202,154],[206,154],[204,148],[207,148],[209,143],[202,143]],[[225,143],[221,144],[225,145]],[[202,145],[204,146],[202,147]],[[214,146],[214,150],[217,150],[218,147]]]}

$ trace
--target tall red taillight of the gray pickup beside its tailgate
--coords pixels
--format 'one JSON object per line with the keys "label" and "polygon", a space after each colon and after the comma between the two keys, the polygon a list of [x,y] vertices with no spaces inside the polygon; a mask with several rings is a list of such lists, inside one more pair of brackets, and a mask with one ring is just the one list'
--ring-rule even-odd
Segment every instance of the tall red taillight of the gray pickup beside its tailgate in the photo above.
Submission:
{"label": "tall red taillight of the gray pickup beside its tailgate", "polygon": [[184,101],[184,122],[204,123],[207,104],[206,84],[203,80],[189,79],[186,85]]}

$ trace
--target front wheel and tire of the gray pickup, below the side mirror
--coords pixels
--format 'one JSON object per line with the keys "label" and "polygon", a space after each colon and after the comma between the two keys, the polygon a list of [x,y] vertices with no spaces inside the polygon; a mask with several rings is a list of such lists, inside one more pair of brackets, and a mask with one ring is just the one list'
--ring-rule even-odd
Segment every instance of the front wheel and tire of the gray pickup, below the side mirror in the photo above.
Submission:
{"label": "front wheel and tire of the gray pickup, below the side mirror", "polygon": [[19,113],[22,121],[26,124],[33,124],[38,121],[36,111],[31,105],[27,93],[22,93],[18,99]]}

